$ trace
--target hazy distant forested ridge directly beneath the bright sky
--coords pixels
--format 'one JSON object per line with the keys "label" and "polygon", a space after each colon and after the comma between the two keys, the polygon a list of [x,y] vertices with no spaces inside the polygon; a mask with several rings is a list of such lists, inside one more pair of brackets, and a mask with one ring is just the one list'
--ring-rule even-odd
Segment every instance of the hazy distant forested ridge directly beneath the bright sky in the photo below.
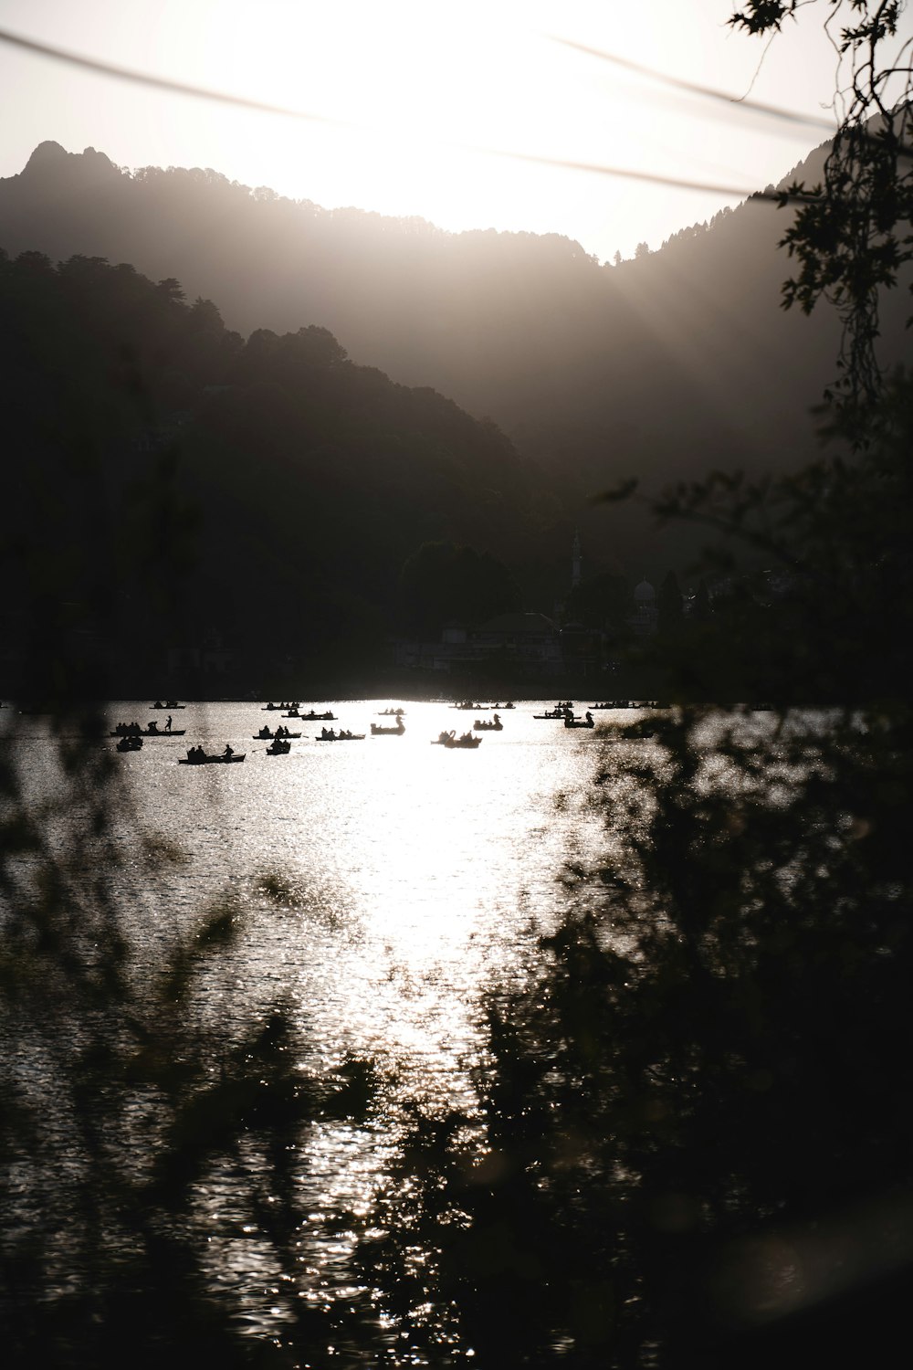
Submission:
{"label": "hazy distant forested ridge directly beneath the bright sky", "polygon": [[[820,166],[819,149],[794,174],[814,181]],[[212,170],[129,173],[55,142],[0,181],[10,253],[97,255],[178,277],[245,333],[330,329],[360,363],[494,419],[571,499],[620,477],[654,490],[712,467],[795,469],[810,455],[810,403],[832,378],[839,334],[824,311],[779,307],[787,223],[787,211],[749,200],[609,266],[554,234],[446,233],[286,200]],[[892,303],[887,358],[903,347]],[[645,552],[646,529],[626,508],[584,533],[635,575],[693,551],[676,530]]]}

